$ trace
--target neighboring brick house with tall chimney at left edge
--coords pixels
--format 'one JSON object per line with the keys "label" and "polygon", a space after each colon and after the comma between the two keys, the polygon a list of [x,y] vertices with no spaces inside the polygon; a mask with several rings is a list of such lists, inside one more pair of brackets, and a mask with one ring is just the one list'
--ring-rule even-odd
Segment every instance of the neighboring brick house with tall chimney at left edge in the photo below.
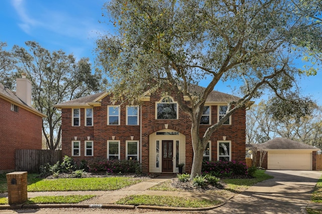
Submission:
{"label": "neighboring brick house with tall chimney at left edge", "polygon": [[41,149],[42,113],[31,106],[31,82],[17,79],[17,93],[0,84],[0,173],[15,170],[16,149]]}

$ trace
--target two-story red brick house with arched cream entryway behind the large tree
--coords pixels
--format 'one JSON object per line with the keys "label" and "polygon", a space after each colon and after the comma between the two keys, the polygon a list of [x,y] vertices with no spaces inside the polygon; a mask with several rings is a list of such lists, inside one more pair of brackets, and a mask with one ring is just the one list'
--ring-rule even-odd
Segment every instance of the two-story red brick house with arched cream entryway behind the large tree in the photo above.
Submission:
{"label": "two-story red brick house with arched cream entryway behind the large tree", "polygon": [[[200,133],[225,114],[228,102],[237,99],[212,91]],[[147,94],[139,106],[119,106],[111,103],[107,92],[101,92],[55,107],[62,113],[62,154],[77,163],[96,157],[135,159],[141,162],[143,172],[175,173],[179,163],[185,163],[184,172],[191,171],[191,120],[174,95]],[[246,109],[237,110],[211,135],[204,159],[245,162],[245,117]]]}

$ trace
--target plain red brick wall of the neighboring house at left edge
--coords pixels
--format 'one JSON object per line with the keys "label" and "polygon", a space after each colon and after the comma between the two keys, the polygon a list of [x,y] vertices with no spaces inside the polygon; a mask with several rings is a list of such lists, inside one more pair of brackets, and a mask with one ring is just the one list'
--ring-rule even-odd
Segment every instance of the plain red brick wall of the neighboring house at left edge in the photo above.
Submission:
{"label": "plain red brick wall of the neighboring house at left edge", "polygon": [[41,149],[42,117],[19,107],[11,111],[11,103],[0,99],[0,170],[15,169],[16,149]]}

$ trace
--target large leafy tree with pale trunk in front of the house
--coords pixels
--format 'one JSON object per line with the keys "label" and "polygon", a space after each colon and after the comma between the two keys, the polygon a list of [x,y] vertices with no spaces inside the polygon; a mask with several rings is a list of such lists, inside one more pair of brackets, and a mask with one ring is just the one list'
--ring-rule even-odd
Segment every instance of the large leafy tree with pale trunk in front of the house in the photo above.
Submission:
{"label": "large leafy tree with pale trunk in front of the house", "polygon": [[[312,47],[322,50],[319,1],[112,0],[105,7],[117,34],[103,35],[96,51],[114,98],[139,100],[147,89],[176,92],[192,121],[192,177],[200,174],[211,133],[266,91],[287,100],[303,74],[293,60]],[[193,93],[191,84],[200,81],[205,90]],[[238,83],[233,93],[240,99],[200,136],[205,100],[219,81]]]}

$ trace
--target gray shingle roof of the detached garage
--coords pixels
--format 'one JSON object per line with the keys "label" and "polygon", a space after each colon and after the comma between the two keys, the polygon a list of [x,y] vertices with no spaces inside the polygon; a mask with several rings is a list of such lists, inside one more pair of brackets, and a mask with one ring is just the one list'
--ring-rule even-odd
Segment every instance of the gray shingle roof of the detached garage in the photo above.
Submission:
{"label": "gray shingle roof of the detached garage", "polygon": [[262,148],[265,150],[275,150],[275,149],[298,149],[298,150],[319,150],[314,146],[310,146],[304,143],[300,143],[294,140],[286,139],[283,137],[278,137],[272,140],[269,140],[265,143],[259,144],[258,148]]}

